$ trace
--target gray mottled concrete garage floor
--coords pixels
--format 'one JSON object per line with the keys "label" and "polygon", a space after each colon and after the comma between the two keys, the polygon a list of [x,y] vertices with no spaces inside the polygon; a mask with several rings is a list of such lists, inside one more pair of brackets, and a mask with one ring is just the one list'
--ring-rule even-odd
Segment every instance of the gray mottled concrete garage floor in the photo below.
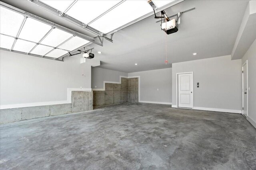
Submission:
{"label": "gray mottled concrete garage floor", "polygon": [[120,104],[0,125],[4,169],[256,169],[240,114]]}

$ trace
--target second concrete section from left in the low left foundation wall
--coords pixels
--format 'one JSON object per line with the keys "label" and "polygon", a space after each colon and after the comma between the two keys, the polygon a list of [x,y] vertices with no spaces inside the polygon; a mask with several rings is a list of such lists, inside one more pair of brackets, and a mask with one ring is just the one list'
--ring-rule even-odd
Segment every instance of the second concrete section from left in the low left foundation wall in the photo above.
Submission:
{"label": "second concrete section from left in the low left foundation wall", "polygon": [[22,107],[22,120],[50,116],[50,105]]}

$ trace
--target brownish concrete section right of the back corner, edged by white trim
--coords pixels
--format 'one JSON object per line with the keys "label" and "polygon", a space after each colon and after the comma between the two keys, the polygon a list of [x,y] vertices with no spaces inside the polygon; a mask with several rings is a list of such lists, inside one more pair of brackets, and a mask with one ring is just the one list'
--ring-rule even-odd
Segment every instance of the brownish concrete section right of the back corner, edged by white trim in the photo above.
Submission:
{"label": "brownish concrete section right of the back corner, edged by white trim", "polygon": [[139,102],[139,79],[128,78],[128,102]]}

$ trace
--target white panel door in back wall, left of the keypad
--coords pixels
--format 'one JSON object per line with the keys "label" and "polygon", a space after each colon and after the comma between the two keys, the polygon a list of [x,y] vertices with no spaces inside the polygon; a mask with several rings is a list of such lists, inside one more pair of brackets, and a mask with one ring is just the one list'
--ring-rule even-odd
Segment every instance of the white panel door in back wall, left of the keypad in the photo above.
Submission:
{"label": "white panel door in back wall, left of the keypad", "polygon": [[178,74],[178,107],[193,108],[193,74]]}

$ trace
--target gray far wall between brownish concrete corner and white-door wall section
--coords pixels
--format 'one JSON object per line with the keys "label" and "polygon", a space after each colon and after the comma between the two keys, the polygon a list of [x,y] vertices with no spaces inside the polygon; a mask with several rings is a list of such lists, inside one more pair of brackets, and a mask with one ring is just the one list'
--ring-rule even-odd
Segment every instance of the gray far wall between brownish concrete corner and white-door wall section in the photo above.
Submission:
{"label": "gray far wall between brownish concrete corner and white-door wall section", "polygon": [[172,102],[172,68],[132,72],[128,76],[140,76],[141,101]]}

